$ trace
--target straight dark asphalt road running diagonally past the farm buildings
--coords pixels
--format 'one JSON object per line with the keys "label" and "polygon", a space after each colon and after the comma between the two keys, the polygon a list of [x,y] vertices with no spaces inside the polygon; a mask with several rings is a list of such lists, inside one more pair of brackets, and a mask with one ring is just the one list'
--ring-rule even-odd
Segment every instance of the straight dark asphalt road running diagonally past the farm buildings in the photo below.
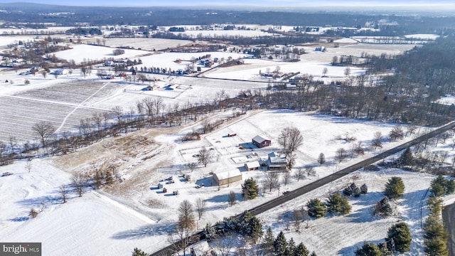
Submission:
{"label": "straight dark asphalt road running diagonally past the farm buildings", "polygon": [[[365,166],[368,166],[370,164],[374,164],[377,161],[380,161],[381,159],[385,159],[387,156],[391,156],[392,154],[396,154],[404,149],[407,149],[410,146],[413,146],[415,144],[418,144],[420,142],[424,142],[426,139],[432,138],[437,136],[438,134],[441,134],[442,132],[446,132],[447,130],[455,127],[455,122],[449,122],[449,124],[445,124],[442,127],[439,127],[438,129],[434,129],[434,131],[429,132],[427,134],[423,134],[422,136],[417,137],[416,139],[412,139],[409,142],[405,142],[403,144],[400,144],[399,146],[395,146],[392,149],[389,149],[387,151],[384,151],[377,156],[373,156],[369,159],[365,159],[363,161],[358,162],[357,164],[353,164],[352,166],[348,166],[345,169],[341,169],[340,171],[337,171],[334,174],[325,176],[317,181],[314,181],[313,183],[309,183],[306,186],[302,186],[300,188],[295,189],[294,191],[289,191],[285,193],[283,196],[280,196],[278,198],[274,198],[271,201],[268,201],[266,203],[263,203],[262,205],[256,206],[255,208],[252,208],[248,211],[250,211],[252,216],[259,215],[260,213],[264,213],[267,210],[270,210],[274,207],[277,207],[281,205],[282,203],[285,203],[287,201],[291,201],[294,198],[297,198],[299,196],[304,195],[305,193],[308,193],[310,191],[315,190],[316,188],[319,188],[321,186],[324,186],[328,183],[331,183],[332,181],[336,181],[338,178],[341,178],[343,176],[346,176],[354,171],[357,171],[358,169],[361,169]],[[452,205],[454,206],[454,205]],[[447,206],[449,207],[449,206]],[[455,207],[453,207],[455,208]],[[455,211],[455,210],[453,210]],[[450,216],[453,216],[455,214],[454,212],[449,213]],[[233,216],[234,218],[239,218],[241,214]],[[454,224],[452,224],[454,225]],[[451,227],[452,231],[454,230],[454,227]],[[194,235],[191,235],[190,238],[185,238],[187,240],[187,247],[192,245],[193,243],[198,242],[199,240],[202,240],[205,238],[205,235],[203,234],[203,231],[200,231]],[[451,241],[454,242],[455,236],[452,234],[451,235]],[[173,255],[173,252],[176,250],[179,250],[181,247],[181,241],[175,242],[172,245],[168,245],[167,247],[164,247],[163,249],[152,253],[150,256],[162,256],[162,255]],[[449,254],[453,255],[453,254]]]}

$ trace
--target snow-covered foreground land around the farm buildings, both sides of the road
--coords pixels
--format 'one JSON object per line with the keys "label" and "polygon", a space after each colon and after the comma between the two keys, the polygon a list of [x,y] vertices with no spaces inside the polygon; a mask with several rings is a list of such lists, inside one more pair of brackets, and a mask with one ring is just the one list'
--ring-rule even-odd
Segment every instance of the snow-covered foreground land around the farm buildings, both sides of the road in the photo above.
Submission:
{"label": "snow-covered foreground land around the farm buildings, both sides of the road", "polygon": [[[212,118],[228,117],[230,114],[232,113],[218,112]],[[273,119],[274,122],[267,121],[269,119]],[[333,159],[334,151],[339,147],[348,149],[348,144],[339,140],[338,135],[341,137],[353,135],[358,141],[368,144],[374,132],[381,131],[382,134],[387,134],[393,127],[393,124],[361,122],[299,112],[248,112],[246,116],[232,119],[225,127],[207,134],[198,142],[180,142],[183,134],[199,125],[180,130],[173,128],[141,130],[134,134],[106,139],[67,156],[34,159],[31,161],[30,173],[26,168],[26,162],[1,166],[0,174],[10,171],[13,175],[0,177],[0,194],[9,195],[1,196],[0,236],[6,237],[6,242],[14,240],[43,242],[46,255],[61,255],[62,252],[87,255],[100,252],[102,250],[100,248],[105,245],[109,245],[109,252],[114,255],[128,255],[134,247],[153,252],[167,244],[168,232],[177,219],[176,208],[183,200],[194,203],[196,198],[203,198],[207,201],[207,213],[198,221],[198,228],[202,228],[205,223],[215,223],[223,216],[241,213],[281,194],[279,191],[272,193],[262,191],[259,198],[242,201],[240,182],[222,186],[220,189],[218,186],[211,186],[213,184],[208,173],[215,170],[240,169],[243,179],[249,177],[259,181],[262,179],[264,171],[245,171],[242,168],[245,159],[251,159],[252,151],[239,149],[237,145],[250,142],[252,136],[260,134],[272,139],[271,147],[254,150],[257,157],[264,159],[267,153],[278,149],[276,139],[282,127],[294,125],[301,129],[305,139],[304,145],[296,153],[296,168],[312,164],[315,165],[317,175],[304,178],[300,182],[291,178],[287,186],[282,186],[281,191],[284,191],[315,181],[336,169],[379,152],[367,151],[363,157],[348,159],[338,164]],[[225,137],[225,134],[232,132],[237,132],[237,137]],[[405,140],[407,139],[411,138],[407,137]],[[397,143],[385,142],[385,148]],[[191,172],[186,164],[196,161],[193,154],[203,146],[213,147],[215,159],[207,167],[198,166],[198,169]],[[328,160],[323,166],[316,164],[315,157],[319,152],[324,152]],[[70,183],[70,174],[77,171],[88,173],[106,161],[117,166],[118,175],[123,179],[122,183],[106,187],[104,192],[88,190],[82,198],[72,192],[68,203],[61,203],[58,189],[61,185]],[[181,174],[191,174],[191,182],[180,178]],[[402,176],[407,186],[405,198],[398,206],[400,215],[385,220],[373,218],[370,215],[371,207],[382,197],[380,191],[387,178],[392,175]],[[169,176],[173,176],[176,182],[166,184],[164,179]],[[302,232],[298,234],[291,229],[287,231],[287,236],[294,237],[294,240],[299,242],[303,241],[310,250],[316,250],[319,254],[352,255],[355,247],[361,245],[364,240],[379,241],[392,223],[396,220],[405,220],[412,225],[413,238],[415,237],[415,243],[412,244],[415,250],[412,251],[418,254],[422,251],[422,239],[419,233],[420,216],[417,212],[431,178],[432,176],[424,174],[409,174],[397,170],[358,172],[297,201],[264,213],[260,218],[264,220],[265,225],[272,225],[274,232],[277,233],[286,225],[283,214],[300,208],[309,198],[325,197],[352,181],[356,181],[359,186],[367,183],[370,193],[358,200],[351,200],[353,213],[350,215],[311,220],[309,221],[311,233],[305,232],[306,229],[302,228]],[[158,183],[162,183],[168,189],[168,193],[162,193],[157,189]],[[205,187],[196,188],[196,185],[202,183]],[[172,196],[172,191],[176,190],[179,191],[179,195]],[[239,200],[232,207],[227,203],[229,191],[235,191]],[[43,208],[43,212],[39,213],[37,218],[29,219],[27,213],[31,208]],[[337,228],[333,228],[334,226]],[[346,235],[333,234],[333,230],[338,230],[336,232],[338,234],[340,232],[354,234],[348,239]],[[360,233],[361,230],[370,231]],[[328,245],[327,251],[324,249],[321,252],[322,244]]]}

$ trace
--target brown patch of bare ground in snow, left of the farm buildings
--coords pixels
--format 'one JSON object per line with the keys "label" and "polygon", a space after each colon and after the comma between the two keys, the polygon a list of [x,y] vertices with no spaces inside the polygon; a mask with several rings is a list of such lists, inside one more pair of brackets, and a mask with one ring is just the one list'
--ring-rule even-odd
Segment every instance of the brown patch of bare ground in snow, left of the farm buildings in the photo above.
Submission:
{"label": "brown patch of bare ground in snow, left of the farm buildings", "polygon": [[[97,170],[112,170],[116,176],[114,183],[105,184],[101,188],[119,198],[133,198],[138,191],[149,189],[150,177],[156,169],[171,164],[171,160],[166,159],[166,154],[173,146],[162,146],[154,138],[175,132],[175,128],[142,129],[103,139],[74,153],[59,156],[53,160],[53,164],[69,173],[82,172],[86,176],[93,176]],[[164,202],[151,198],[139,198],[139,201],[144,206],[154,208],[165,206]]]}

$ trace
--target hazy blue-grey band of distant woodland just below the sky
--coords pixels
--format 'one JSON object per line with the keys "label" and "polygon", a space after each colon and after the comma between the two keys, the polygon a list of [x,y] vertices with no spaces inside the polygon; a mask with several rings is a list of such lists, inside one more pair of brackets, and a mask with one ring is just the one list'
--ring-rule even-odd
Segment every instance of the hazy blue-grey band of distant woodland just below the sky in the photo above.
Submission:
{"label": "hazy blue-grey band of distant woodland just below the sky", "polygon": [[[434,33],[453,28],[455,19],[452,16],[421,16],[394,14],[359,14],[348,11],[328,13],[316,11],[277,11],[277,10],[210,10],[210,9],[170,9],[154,7],[153,15],[146,7],[83,7],[83,6],[52,6],[40,4],[1,4],[2,19],[9,22],[27,22],[27,26],[35,23],[58,23],[62,26],[77,26],[78,23],[90,23],[92,26],[105,24],[140,24],[155,26],[173,26],[175,24],[208,25],[213,23],[230,24],[270,24],[279,21],[280,25],[299,26],[305,28],[308,24],[319,21],[333,27],[360,27],[371,23],[373,28],[381,31],[363,31],[363,35],[396,36],[403,33]],[[390,11],[393,12],[393,11]],[[43,15],[46,13],[61,13],[60,15]],[[414,14],[414,13],[413,13]],[[380,20],[395,21],[395,25],[381,25]],[[24,22],[25,21],[25,22]],[[353,31],[333,31],[337,36],[352,36]]]}

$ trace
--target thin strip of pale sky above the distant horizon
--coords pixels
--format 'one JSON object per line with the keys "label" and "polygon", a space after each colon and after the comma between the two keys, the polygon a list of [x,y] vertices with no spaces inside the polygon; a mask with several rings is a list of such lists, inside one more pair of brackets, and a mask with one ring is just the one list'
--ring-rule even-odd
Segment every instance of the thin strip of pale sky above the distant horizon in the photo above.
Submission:
{"label": "thin strip of pale sky above the distant horizon", "polygon": [[[19,0],[21,1],[21,0]],[[19,2],[0,0],[0,3]],[[444,6],[454,5],[454,1],[406,1],[406,0],[22,0],[38,4],[58,4],[69,6]]]}

